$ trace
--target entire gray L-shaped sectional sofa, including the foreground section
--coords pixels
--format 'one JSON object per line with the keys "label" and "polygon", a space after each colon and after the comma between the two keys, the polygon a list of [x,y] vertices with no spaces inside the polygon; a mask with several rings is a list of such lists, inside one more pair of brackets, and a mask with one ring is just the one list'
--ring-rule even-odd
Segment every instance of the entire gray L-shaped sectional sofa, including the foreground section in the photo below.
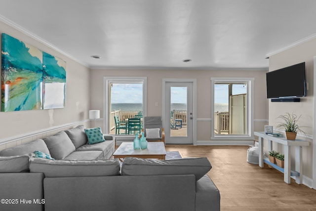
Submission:
{"label": "entire gray L-shaped sectional sofa, including the foreground section", "polygon": [[[219,190],[206,174],[211,169],[206,158],[125,158],[121,164],[107,160],[114,152],[114,137],[86,146],[83,128],[2,150],[0,210],[220,210]],[[67,147],[59,151],[63,142]],[[56,160],[34,158],[34,150]]]}

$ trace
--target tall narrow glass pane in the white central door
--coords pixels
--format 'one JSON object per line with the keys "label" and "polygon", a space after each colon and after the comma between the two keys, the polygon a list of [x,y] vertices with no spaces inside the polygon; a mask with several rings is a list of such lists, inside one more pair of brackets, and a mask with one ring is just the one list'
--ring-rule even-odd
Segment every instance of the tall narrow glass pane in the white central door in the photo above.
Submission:
{"label": "tall narrow glass pane in the white central door", "polygon": [[187,136],[187,102],[186,86],[170,87],[170,137]]}

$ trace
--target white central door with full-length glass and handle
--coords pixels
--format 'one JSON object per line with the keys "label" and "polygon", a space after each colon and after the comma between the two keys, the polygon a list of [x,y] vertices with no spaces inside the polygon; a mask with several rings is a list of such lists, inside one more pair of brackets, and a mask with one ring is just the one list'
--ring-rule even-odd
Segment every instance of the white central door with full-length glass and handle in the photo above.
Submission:
{"label": "white central door with full-length glass and handle", "polygon": [[194,143],[194,83],[164,82],[166,144]]}

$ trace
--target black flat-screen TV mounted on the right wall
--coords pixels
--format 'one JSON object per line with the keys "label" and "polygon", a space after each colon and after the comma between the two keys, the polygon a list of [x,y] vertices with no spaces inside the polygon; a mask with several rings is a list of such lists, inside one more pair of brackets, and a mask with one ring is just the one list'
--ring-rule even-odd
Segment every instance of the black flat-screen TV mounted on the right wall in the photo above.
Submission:
{"label": "black flat-screen TV mounted on the right wall", "polygon": [[306,96],[305,62],[267,73],[267,97]]}

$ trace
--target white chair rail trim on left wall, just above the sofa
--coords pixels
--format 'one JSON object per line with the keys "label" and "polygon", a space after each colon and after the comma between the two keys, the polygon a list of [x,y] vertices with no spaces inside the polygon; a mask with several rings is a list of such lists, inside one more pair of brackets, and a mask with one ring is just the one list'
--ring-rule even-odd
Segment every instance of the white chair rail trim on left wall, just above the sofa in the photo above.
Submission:
{"label": "white chair rail trim on left wall, just above the sofa", "polygon": [[49,128],[46,128],[46,129],[41,129],[41,130],[37,130],[37,131],[30,132],[30,133],[25,133],[25,134],[9,137],[9,138],[3,138],[3,139],[0,139],[0,144],[6,144],[6,143],[17,141],[17,140],[20,140],[20,139],[29,138],[29,137],[32,137],[32,136],[35,136],[35,135],[40,135],[42,133],[52,132],[54,130],[62,129],[64,127],[72,127],[72,126],[75,126],[75,125],[84,124],[84,123],[87,123],[89,121],[90,120],[83,120],[83,121],[79,121],[79,122],[68,123],[68,124],[65,124],[65,125],[49,127]]}

